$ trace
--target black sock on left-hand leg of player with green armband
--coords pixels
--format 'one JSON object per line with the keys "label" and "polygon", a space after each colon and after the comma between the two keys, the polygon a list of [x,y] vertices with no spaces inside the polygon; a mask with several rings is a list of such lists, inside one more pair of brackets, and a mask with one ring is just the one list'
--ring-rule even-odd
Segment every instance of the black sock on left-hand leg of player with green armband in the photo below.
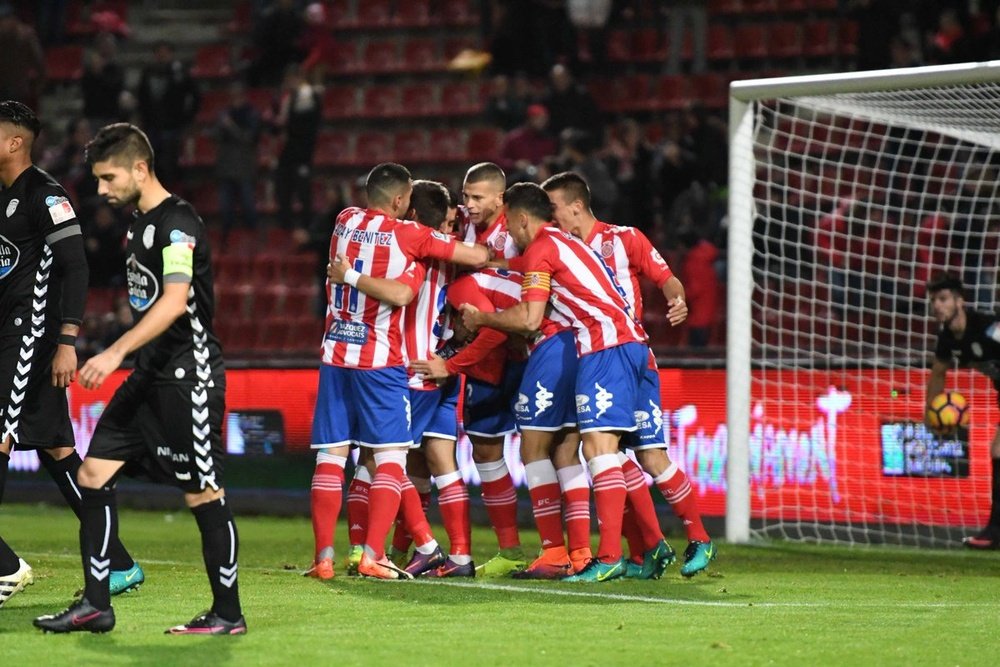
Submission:
{"label": "black sock on left-hand leg of player with green armband", "polygon": [[83,558],[83,594],[94,607],[111,606],[111,558],[108,545],[118,536],[115,492],[80,487],[80,555]]}

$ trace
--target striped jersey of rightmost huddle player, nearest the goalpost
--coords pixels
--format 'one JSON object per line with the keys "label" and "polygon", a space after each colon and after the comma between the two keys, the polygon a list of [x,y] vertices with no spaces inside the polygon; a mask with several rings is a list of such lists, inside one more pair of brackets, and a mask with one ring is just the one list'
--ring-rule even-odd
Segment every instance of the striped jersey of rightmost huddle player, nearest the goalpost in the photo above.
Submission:
{"label": "striped jersey of rightmost huddle player, nearest the goalpost", "polygon": [[653,247],[649,239],[635,227],[609,225],[597,220],[590,236],[584,239],[604,263],[615,273],[618,284],[625,290],[625,298],[635,314],[642,321],[642,292],[639,278],[645,277],[663,288],[674,275],[666,260]]}

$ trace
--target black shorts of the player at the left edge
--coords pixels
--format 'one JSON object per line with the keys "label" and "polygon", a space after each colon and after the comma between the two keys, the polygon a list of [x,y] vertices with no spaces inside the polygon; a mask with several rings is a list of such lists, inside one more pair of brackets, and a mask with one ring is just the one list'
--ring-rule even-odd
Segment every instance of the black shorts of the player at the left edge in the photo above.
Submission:
{"label": "black shorts of the player at the left edge", "polygon": [[56,344],[31,336],[0,336],[0,427],[17,449],[72,447],[66,390],[52,386]]}

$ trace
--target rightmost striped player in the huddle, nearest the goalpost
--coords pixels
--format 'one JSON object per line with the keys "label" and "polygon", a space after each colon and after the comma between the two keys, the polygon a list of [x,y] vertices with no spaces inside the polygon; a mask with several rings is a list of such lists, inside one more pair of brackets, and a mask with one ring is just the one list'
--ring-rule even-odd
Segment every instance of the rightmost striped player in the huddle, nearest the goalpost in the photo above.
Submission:
{"label": "rightmost striped player in the huddle, nearest the goalpost", "polygon": [[[556,224],[563,231],[583,239],[594,251],[600,253],[617,276],[637,318],[641,320],[643,312],[639,279],[645,278],[653,281],[663,292],[669,304],[667,320],[671,326],[684,321],[687,317],[684,286],[645,234],[634,227],[619,227],[597,220],[590,209],[590,188],[578,174],[556,174],[546,180],[542,188],[549,193],[555,209],[553,217]],[[663,423],[660,405],[659,371],[652,354],[643,387],[643,405],[637,412],[639,430],[635,437],[626,439],[626,444],[633,450],[643,469],[653,477],[654,483],[684,524],[689,545],[681,572],[692,576],[707,567],[709,560],[714,558],[715,547],[702,523],[687,475],[667,455],[667,427]],[[629,537],[635,559],[640,552],[662,549],[658,545],[662,535],[656,536],[659,522],[652,503],[645,497],[645,480],[638,470],[633,470],[635,466],[630,460],[624,462],[624,466],[629,484],[629,499],[633,501],[632,509],[637,519],[637,523],[631,526],[630,521],[626,520],[626,536]],[[631,546],[640,543],[643,544],[641,549]],[[635,571],[635,568],[630,566],[630,570]]]}

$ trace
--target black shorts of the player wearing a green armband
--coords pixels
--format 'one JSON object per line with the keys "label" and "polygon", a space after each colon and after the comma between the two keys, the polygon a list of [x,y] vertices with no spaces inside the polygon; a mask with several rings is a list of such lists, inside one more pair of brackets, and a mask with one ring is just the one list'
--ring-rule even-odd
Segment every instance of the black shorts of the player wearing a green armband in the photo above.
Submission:
{"label": "black shorts of the player wearing a green armband", "polygon": [[187,493],[222,488],[225,377],[214,383],[153,382],[132,373],[98,420],[87,456],[125,461],[126,475]]}

